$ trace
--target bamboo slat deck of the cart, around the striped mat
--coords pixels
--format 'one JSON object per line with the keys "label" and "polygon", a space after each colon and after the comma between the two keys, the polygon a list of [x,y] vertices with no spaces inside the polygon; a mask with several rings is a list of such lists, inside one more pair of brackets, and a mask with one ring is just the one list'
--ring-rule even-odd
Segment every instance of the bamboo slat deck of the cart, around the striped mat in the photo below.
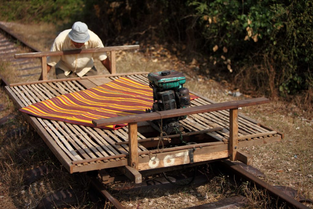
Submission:
{"label": "bamboo slat deck of the cart, around the striped mat", "polygon": [[[146,74],[147,73],[128,73],[36,81],[6,86],[6,91],[17,107],[21,108],[61,94],[99,86],[103,83],[115,80],[120,76],[127,76],[148,84]],[[192,100],[192,106],[212,103],[214,102],[202,97]],[[35,118],[25,113],[22,114],[70,173],[128,165],[128,145],[115,145],[115,142],[128,141],[127,127],[112,131]],[[195,161],[207,161],[210,159],[227,158],[229,156],[229,112],[227,110],[189,115],[187,119],[180,123],[191,131],[216,127],[223,128],[221,131],[207,133],[210,137],[214,138],[216,142],[220,143],[216,144],[216,146],[208,146],[206,149],[195,152],[195,155],[198,154],[198,159],[195,158]],[[139,138],[145,138],[139,132],[137,135]],[[281,135],[277,134],[276,131],[266,128],[253,119],[239,114],[239,147],[265,144],[279,141],[280,139]],[[155,166],[154,163],[151,164],[151,156],[148,156],[149,152],[151,151],[147,150],[141,144],[138,144],[138,153],[140,154],[139,170],[172,165],[163,163],[162,165],[158,164]],[[170,153],[175,155],[173,158],[177,158],[177,161],[181,160],[178,164],[186,164],[189,162],[188,152],[186,154],[185,151],[182,152],[178,150],[170,151]],[[158,158],[167,159],[167,156],[169,156],[168,153],[159,153]]]}

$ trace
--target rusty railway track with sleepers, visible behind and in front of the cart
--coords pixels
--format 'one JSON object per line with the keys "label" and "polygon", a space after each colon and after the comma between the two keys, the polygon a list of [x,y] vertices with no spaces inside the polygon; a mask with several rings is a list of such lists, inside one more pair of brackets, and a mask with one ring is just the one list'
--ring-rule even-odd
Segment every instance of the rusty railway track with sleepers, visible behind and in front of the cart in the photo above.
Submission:
{"label": "rusty railway track with sleepers, visible behind and in front of the cart", "polygon": [[[41,72],[41,65],[40,65],[40,60],[39,59],[32,59],[32,58],[25,58],[25,59],[14,59],[14,55],[22,52],[38,52],[38,49],[33,48],[30,46],[24,39],[23,37],[20,37],[17,34],[14,34],[10,29],[5,27],[3,24],[0,24],[0,60],[1,62],[6,62],[10,67],[12,67],[14,70],[19,71],[18,77],[30,77],[30,76],[39,76]],[[1,75],[0,75],[1,76]],[[5,85],[8,85],[8,81],[1,76],[1,79]],[[273,198],[274,201],[277,200],[277,205],[279,206],[288,206],[291,208],[308,208],[304,204],[300,203],[299,201],[296,201],[294,198],[291,196],[288,196],[286,193],[283,191],[277,189],[274,186],[269,185],[265,181],[257,178],[255,175],[252,175],[251,173],[247,172],[244,170],[244,168],[228,161],[228,160],[223,160],[219,162],[215,162],[215,164],[219,163],[221,167],[223,167],[223,170],[226,170],[228,172],[227,175],[233,175],[234,178],[237,179],[245,179],[250,182],[251,185],[255,185],[259,189],[266,190],[271,198]],[[185,166],[186,167],[186,166]],[[39,167],[40,168],[40,167]],[[38,180],[40,177],[44,177],[48,171],[47,169],[39,169],[37,168],[36,171],[28,172],[29,176],[24,176],[24,178],[30,180],[33,178],[33,180]],[[35,169],[34,169],[35,170]],[[161,173],[166,170],[157,170],[155,173]],[[36,177],[34,177],[36,176]],[[99,181],[99,179],[95,178],[94,176],[88,176],[87,177],[91,184],[93,185],[93,188],[99,191],[99,193],[106,199],[105,203],[105,208],[110,208],[110,207],[115,207],[115,208],[124,208],[124,206],[121,205],[121,203],[114,198],[114,196],[108,191],[105,186]],[[117,178],[118,179],[118,178]],[[32,182],[33,180],[30,180],[29,182]],[[174,179],[179,181],[178,179]],[[202,185],[206,183],[206,178],[198,178],[195,182],[195,185]],[[155,181],[155,185],[160,184],[160,187],[162,186],[167,186],[167,188],[173,187],[170,186],[168,183],[165,182],[157,182]],[[29,183],[30,184],[30,183]],[[125,184],[126,185],[126,184]],[[127,186],[126,186],[127,187]],[[125,187],[125,188],[126,188]],[[136,186],[134,184],[128,185],[126,189],[147,189],[149,186]],[[60,204],[64,203],[64,201],[68,201],[67,203],[70,204],[71,202],[75,202],[76,199],[73,200],[73,198],[65,198],[64,196],[69,196],[72,197],[74,195],[73,191],[59,191],[58,193],[55,193],[56,197],[59,198],[58,200],[60,201]],[[54,197],[55,197],[54,196]],[[50,199],[49,199],[50,198]],[[63,199],[62,199],[63,198]],[[214,203],[215,206],[219,207],[226,207],[229,206],[228,208],[237,207],[238,205],[235,204],[235,202],[239,202],[238,200],[242,197],[236,197],[233,198],[231,201],[225,201],[224,203]],[[56,202],[57,199],[53,199],[53,195],[46,197],[44,200],[41,200],[40,204],[42,206],[47,206],[49,205],[52,201]],[[310,200],[307,200],[310,201]],[[46,205],[45,205],[46,204]],[[243,203],[244,204],[244,203]],[[51,205],[51,204],[50,204]],[[40,208],[40,207],[39,207]],[[194,206],[192,207],[194,209],[200,209],[200,208],[213,208],[213,204],[206,204],[206,205],[200,205],[200,206]],[[217,208],[217,207],[216,207]]]}

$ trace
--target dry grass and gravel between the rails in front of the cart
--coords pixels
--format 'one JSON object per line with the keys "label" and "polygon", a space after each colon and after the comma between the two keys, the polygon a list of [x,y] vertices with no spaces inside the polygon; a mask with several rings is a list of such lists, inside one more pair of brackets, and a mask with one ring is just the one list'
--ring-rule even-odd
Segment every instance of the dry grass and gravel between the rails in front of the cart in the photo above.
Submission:
{"label": "dry grass and gravel between the rails in front of the cart", "polygon": [[210,175],[205,185],[177,187],[172,190],[123,192],[115,194],[126,208],[185,208],[222,200],[237,194],[225,176]]}

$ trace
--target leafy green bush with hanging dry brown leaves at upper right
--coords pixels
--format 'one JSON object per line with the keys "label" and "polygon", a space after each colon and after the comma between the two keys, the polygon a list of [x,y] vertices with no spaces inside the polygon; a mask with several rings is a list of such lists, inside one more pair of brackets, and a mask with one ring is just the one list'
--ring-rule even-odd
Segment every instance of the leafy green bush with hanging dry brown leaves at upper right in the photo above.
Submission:
{"label": "leafy green bush with hanging dry brown leaves at upper right", "polygon": [[220,67],[232,63],[227,68],[235,73],[245,65],[274,69],[264,77],[270,82],[275,76],[273,83],[261,83],[274,85],[282,95],[312,87],[306,79],[313,64],[312,1],[191,0],[188,5],[199,17],[206,52]]}

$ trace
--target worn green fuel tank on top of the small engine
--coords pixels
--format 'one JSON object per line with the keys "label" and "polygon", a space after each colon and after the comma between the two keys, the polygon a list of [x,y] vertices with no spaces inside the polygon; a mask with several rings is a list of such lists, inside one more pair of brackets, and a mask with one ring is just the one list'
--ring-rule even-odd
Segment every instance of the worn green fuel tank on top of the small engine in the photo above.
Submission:
{"label": "worn green fuel tank on top of the small engine", "polygon": [[186,83],[186,77],[174,70],[149,73],[148,80],[162,89],[181,88],[182,84]]}

